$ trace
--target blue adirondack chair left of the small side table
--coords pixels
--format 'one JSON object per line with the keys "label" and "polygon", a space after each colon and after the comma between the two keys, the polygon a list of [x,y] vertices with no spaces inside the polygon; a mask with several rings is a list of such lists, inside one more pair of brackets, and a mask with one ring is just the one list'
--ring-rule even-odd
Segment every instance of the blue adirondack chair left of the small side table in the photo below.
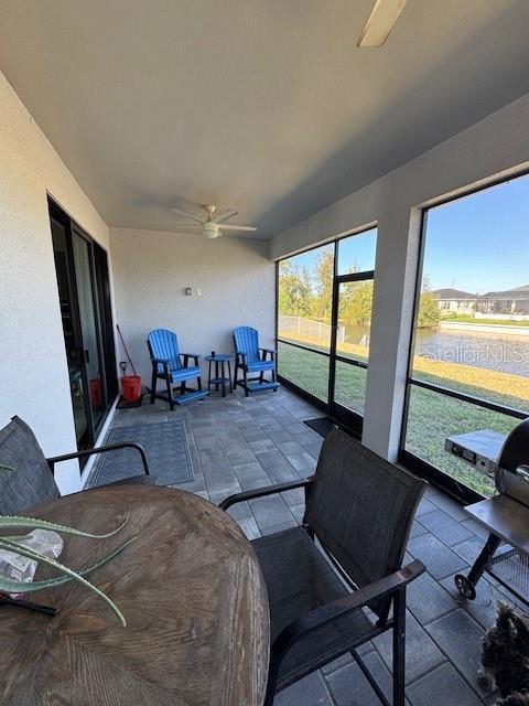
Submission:
{"label": "blue adirondack chair left of the small side table", "polygon": [[[155,397],[169,402],[171,409],[174,405],[185,405],[194,399],[204,399],[208,394],[202,389],[199,355],[194,353],[181,353],[176,334],[166,329],[154,329],[147,338],[149,355],[152,363],[151,405]],[[190,359],[194,365],[190,365]],[[186,386],[186,381],[196,378],[196,389]],[[159,379],[165,381],[166,395],[156,393]],[[180,387],[180,395],[174,395],[173,386]]]}

